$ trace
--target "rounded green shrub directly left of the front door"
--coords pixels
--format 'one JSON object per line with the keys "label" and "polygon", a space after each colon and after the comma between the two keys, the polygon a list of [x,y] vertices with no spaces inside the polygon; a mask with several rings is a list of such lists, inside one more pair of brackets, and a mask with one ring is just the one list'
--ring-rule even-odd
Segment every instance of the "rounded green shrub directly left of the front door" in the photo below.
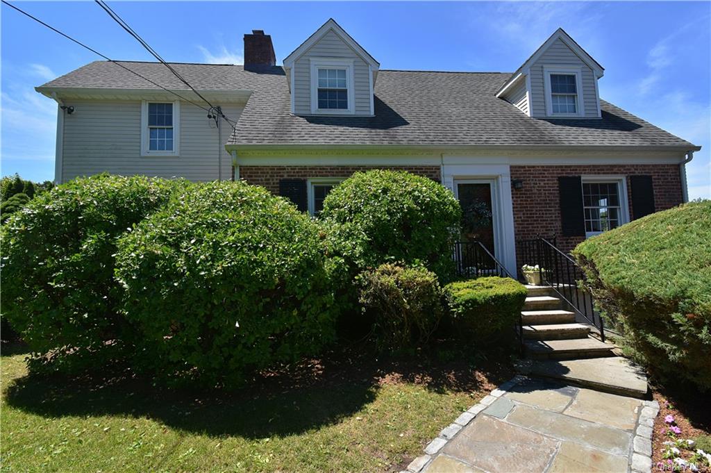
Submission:
{"label": "rounded green shrub directly left of the front door", "polygon": [[328,194],[321,212],[336,250],[358,270],[421,264],[440,277],[452,267],[461,209],[441,184],[405,171],[358,172]]}

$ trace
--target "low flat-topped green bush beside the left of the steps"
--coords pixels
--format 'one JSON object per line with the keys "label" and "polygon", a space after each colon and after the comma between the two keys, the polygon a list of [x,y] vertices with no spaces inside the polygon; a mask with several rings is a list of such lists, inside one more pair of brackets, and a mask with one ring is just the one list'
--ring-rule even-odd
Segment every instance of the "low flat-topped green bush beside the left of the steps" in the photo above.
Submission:
{"label": "low flat-topped green bush beside the left of the steps", "polygon": [[451,282],[444,290],[456,330],[481,343],[513,334],[528,294],[520,282],[497,276]]}

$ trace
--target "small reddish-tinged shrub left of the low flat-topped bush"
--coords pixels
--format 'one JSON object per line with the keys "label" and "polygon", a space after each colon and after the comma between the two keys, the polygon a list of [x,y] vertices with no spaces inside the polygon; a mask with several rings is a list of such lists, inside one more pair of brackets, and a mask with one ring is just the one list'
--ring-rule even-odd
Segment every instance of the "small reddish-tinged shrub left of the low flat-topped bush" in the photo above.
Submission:
{"label": "small reddish-tinged shrub left of the low flat-topped bush", "polygon": [[374,320],[381,347],[427,342],[442,317],[442,289],[434,272],[386,263],[360,273],[357,280],[360,304]]}

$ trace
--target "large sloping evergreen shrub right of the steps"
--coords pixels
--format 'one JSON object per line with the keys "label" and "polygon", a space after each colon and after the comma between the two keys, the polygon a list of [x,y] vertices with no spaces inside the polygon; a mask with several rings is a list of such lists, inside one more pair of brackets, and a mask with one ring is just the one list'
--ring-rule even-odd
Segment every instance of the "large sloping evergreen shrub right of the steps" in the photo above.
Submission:
{"label": "large sloping evergreen shrub right of the steps", "polygon": [[711,388],[711,201],[653,213],[573,251],[634,356]]}

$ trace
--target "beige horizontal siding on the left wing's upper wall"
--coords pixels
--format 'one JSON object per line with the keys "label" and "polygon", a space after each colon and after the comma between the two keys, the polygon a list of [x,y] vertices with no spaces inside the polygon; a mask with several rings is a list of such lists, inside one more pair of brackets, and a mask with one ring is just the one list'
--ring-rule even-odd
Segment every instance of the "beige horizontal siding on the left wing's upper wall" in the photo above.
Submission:
{"label": "beige horizontal siding on the left wing's upper wall", "polygon": [[[222,122],[223,144],[218,144],[215,122],[201,108],[181,102],[179,156],[141,156],[139,100],[73,100],[72,105],[75,112],[64,117],[63,182],[102,172],[213,181],[218,179],[218,147],[222,152],[222,177],[230,179],[232,157],[224,144],[232,127]],[[237,120],[243,107],[222,108],[225,115]]]}

